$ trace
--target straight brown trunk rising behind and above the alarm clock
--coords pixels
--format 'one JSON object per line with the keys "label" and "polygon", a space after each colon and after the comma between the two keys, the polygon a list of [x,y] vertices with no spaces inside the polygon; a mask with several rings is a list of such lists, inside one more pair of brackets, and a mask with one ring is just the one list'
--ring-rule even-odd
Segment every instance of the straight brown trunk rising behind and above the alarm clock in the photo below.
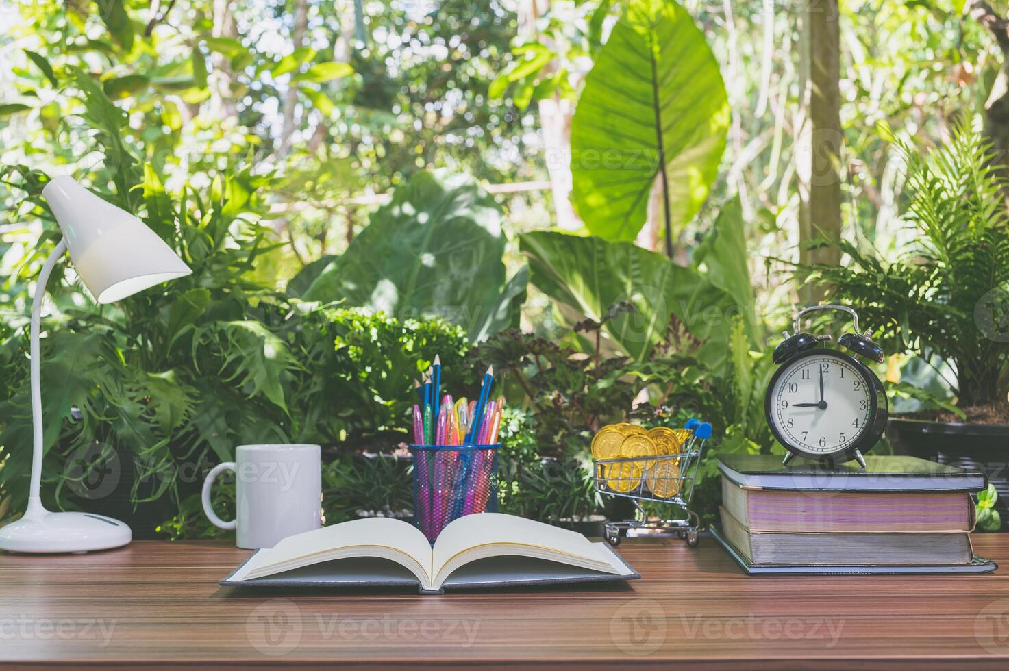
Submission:
{"label": "straight brown trunk rising behind and above the alarm clock", "polygon": [[[840,30],[837,0],[809,0],[799,31],[800,100],[796,124],[795,175],[799,193],[799,260],[840,261],[833,245],[807,249],[817,237],[840,236]],[[816,303],[822,294],[812,287],[799,299]]]}

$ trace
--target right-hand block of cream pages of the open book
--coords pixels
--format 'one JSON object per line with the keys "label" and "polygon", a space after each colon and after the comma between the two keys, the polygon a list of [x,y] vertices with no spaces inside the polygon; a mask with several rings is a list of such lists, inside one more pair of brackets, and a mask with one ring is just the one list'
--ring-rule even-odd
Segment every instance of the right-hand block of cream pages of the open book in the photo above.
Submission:
{"label": "right-hand block of cream pages of the open book", "polygon": [[440,587],[456,568],[500,555],[546,559],[603,573],[627,570],[613,563],[611,553],[576,532],[512,515],[482,513],[459,518],[442,530],[434,547],[433,583]]}

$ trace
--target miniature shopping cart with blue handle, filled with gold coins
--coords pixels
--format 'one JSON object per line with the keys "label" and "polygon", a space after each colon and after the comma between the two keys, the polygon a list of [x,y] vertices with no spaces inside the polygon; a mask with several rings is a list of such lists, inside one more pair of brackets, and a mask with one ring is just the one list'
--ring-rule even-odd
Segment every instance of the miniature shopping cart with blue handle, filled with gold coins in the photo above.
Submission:
{"label": "miniature shopping cart with blue handle, filled with gold coins", "polygon": [[[630,498],[635,506],[634,520],[606,523],[606,542],[610,545],[620,545],[629,529],[650,529],[675,531],[679,538],[686,539],[689,547],[697,547],[700,520],[690,510],[690,501],[700,453],[704,442],[711,437],[711,425],[690,420],[684,429],[690,434],[674,454],[593,460],[596,491]],[[646,500],[669,504],[678,515],[668,520],[649,520],[642,507]]]}

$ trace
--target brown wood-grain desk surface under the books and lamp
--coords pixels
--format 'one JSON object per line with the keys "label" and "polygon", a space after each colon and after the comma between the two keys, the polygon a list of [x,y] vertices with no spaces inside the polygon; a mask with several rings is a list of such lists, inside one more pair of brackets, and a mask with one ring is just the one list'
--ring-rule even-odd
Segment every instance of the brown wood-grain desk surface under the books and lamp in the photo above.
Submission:
{"label": "brown wood-grain desk surface under the books and lamp", "polygon": [[0,555],[0,666],[1006,668],[1009,534],[975,548],[1003,568],[750,578],[709,538],[632,540],[620,551],[643,579],[626,585],[444,596],[220,587],[248,554],[220,542]]}

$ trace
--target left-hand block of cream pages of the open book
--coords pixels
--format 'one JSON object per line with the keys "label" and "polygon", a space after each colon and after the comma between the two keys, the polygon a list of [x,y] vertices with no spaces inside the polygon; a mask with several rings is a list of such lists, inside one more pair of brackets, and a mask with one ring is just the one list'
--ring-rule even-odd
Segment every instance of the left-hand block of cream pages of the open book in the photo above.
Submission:
{"label": "left-hand block of cream pages of the open book", "polygon": [[354,520],[290,536],[260,550],[233,576],[248,580],[347,557],[379,557],[410,569],[429,587],[431,545],[416,527],[402,520]]}

